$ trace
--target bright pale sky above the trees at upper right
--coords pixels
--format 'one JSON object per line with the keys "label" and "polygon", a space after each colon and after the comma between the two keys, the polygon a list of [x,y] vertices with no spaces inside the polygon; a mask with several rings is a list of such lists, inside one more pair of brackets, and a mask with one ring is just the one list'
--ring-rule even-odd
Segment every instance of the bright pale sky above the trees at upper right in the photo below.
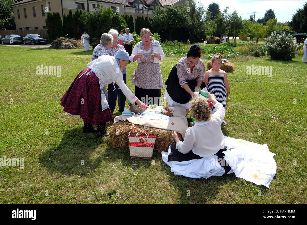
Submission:
{"label": "bright pale sky above the trees at upper right", "polygon": [[226,6],[229,6],[228,13],[232,13],[236,10],[242,19],[249,19],[251,13],[254,15],[256,11],[256,21],[258,18],[264,16],[266,10],[274,9],[275,17],[278,22],[291,21],[297,9],[302,8],[305,2],[307,2],[307,0],[196,0],[196,2],[198,1],[204,5],[205,9],[207,9],[208,5],[212,2],[217,3],[221,11],[223,11]]}

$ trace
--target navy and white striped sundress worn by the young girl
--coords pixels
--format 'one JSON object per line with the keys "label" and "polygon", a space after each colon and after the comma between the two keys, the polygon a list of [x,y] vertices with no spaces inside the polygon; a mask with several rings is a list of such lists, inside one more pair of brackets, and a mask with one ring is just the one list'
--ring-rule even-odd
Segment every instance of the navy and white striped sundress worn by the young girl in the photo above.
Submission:
{"label": "navy and white striped sundress worn by the young girl", "polygon": [[[226,92],[225,92],[225,85],[224,85],[224,74],[210,74],[208,77],[208,85],[207,89],[208,92],[214,94],[216,96],[216,100],[219,103],[222,103],[224,109],[226,107]],[[211,108],[211,111],[214,113],[216,111],[215,107]]]}

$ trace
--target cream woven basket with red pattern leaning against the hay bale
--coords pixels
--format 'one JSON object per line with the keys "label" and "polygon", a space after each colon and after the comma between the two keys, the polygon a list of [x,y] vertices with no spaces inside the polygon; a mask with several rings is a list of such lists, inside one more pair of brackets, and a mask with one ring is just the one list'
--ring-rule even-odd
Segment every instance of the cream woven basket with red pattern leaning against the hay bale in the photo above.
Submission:
{"label": "cream woven basket with red pattern leaning against the hay bale", "polygon": [[[140,134],[142,132],[146,135]],[[146,131],[141,130],[137,134],[129,134],[128,138],[131,158],[150,159],[153,156],[156,135],[148,135]]]}

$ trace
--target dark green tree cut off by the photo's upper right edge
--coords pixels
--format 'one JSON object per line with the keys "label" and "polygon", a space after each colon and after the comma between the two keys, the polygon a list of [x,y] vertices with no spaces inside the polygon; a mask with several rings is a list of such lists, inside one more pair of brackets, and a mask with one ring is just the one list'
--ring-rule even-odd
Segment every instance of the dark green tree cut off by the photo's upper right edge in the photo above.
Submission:
{"label": "dark green tree cut off by the photo's upper right edge", "polygon": [[307,33],[307,2],[302,9],[297,9],[289,25],[297,33]]}

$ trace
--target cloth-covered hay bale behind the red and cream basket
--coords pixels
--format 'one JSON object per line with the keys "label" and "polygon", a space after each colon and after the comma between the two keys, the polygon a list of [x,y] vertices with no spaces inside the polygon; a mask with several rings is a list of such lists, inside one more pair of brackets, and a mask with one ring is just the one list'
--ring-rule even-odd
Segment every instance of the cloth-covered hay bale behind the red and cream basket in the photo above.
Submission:
{"label": "cloth-covered hay bale behind the red and cream basket", "polygon": [[[173,131],[165,129],[157,129],[153,127],[133,124],[128,121],[120,121],[114,123],[109,128],[110,142],[114,148],[126,148],[129,150],[129,134],[137,134],[140,130],[145,130],[150,135],[157,135],[153,150],[158,152],[167,152],[169,145],[174,141],[172,138]],[[177,133],[179,140],[182,141],[182,136]]]}

